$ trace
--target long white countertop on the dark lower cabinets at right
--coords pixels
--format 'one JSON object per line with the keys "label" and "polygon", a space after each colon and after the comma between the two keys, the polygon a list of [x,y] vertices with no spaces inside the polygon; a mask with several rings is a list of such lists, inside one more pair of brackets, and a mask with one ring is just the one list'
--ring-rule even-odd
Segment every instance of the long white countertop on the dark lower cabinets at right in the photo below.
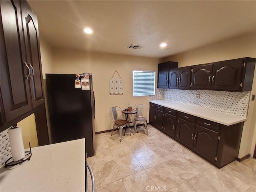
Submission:
{"label": "long white countertop on the dark lower cabinets at right", "polygon": [[225,113],[221,113],[221,112],[216,112],[216,111],[212,111],[212,110],[208,110],[208,109],[204,109],[204,108],[198,108],[198,107],[194,107],[194,106],[190,106],[190,105],[184,105],[184,104],[180,104],[180,103],[176,103],[176,102],[171,102],[171,101],[167,101],[167,100],[152,100],[149,101],[151,103],[154,104],[158,104],[164,107],[168,107],[180,112],[184,112],[190,115],[194,115],[200,118],[204,118],[213,122],[217,122],[220,124],[224,124],[227,126],[236,124],[236,123],[240,123],[240,122],[244,122],[247,120],[247,118],[245,117],[241,117],[241,116],[236,116],[236,115],[230,115],[230,114],[225,114]]}

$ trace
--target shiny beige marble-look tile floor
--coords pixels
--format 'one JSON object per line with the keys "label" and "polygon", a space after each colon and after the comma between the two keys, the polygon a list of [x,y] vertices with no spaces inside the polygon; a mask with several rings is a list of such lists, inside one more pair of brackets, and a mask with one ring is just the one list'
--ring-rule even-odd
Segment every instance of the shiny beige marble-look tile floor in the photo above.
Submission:
{"label": "shiny beige marble-look tile floor", "polygon": [[138,131],[126,132],[122,142],[117,131],[96,134],[96,152],[88,158],[96,192],[256,192],[256,159],[218,169],[153,126],[148,136]]}

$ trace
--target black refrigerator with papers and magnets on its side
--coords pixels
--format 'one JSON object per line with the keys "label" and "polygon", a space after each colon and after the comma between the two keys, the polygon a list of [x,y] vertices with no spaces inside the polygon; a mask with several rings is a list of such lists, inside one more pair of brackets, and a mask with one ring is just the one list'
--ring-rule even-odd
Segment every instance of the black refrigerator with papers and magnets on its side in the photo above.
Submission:
{"label": "black refrigerator with papers and magnets on its side", "polygon": [[86,139],[87,157],[95,151],[95,100],[92,74],[46,74],[52,143]]}

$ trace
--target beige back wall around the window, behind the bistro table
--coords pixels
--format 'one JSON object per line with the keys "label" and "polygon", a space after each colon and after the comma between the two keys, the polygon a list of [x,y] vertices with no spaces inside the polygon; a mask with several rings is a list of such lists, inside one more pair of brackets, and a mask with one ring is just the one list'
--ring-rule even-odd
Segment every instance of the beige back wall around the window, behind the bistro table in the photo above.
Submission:
{"label": "beige back wall around the window, behind the bistro table", "polygon": [[[52,59],[53,73],[92,73],[96,100],[95,132],[112,129],[109,114],[109,109],[112,106],[120,106],[124,109],[128,103],[132,106],[142,103],[149,107],[148,96],[132,96],[132,71],[155,70],[157,72],[157,64],[158,59],[156,58],[82,52],[62,48],[53,49]],[[109,79],[112,78],[115,70],[118,71],[124,82],[123,95],[109,94]]]}

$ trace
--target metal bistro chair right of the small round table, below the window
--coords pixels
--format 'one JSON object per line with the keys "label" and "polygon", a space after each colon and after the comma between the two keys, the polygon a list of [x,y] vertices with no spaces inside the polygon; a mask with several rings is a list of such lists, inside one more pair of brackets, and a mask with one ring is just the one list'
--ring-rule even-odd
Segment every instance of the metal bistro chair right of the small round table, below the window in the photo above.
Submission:
{"label": "metal bistro chair right of the small round table, below the window", "polygon": [[146,129],[146,134],[148,135],[148,126],[147,126],[147,119],[144,117],[148,114],[148,108],[146,105],[144,104],[136,104],[134,106],[134,109],[137,111],[135,120],[134,120],[134,132],[135,133],[135,128],[137,130],[138,133],[138,129],[137,129],[137,124],[138,123],[143,123],[144,128]]}

